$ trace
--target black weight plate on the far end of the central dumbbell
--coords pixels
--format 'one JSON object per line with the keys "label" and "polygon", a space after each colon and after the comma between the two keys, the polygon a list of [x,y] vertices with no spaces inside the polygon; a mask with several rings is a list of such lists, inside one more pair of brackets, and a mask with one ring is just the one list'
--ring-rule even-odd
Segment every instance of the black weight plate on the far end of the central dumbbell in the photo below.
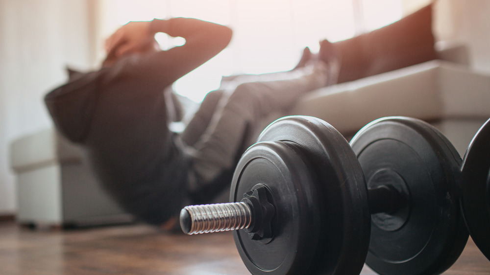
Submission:
{"label": "black weight plate on the far end of the central dumbbell", "polygon": [[368,188],[384,181],[408,193],[406,207],[372,215],[368,266],[390,275],[448,269],[468,239],[459,210],[461,158],[451,143],[421,120],[388,117],[368,124],[350,144]]}

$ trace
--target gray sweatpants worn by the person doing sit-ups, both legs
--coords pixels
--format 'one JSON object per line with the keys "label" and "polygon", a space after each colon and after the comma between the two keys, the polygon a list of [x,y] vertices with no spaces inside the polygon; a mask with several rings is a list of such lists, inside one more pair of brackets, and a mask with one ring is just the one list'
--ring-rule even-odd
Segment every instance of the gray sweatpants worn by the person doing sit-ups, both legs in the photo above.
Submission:
{"label": "gray sweatpants worn by the person doing sit-ups, both legs", "polygon": [[328,84],[328,68],[321,63],[296,69],[235,79],[210,92],[182,134],[192,146],[188,189],[212,184],[233,168],[243,153],[247,130],[255,129],[272,112],[290,108],[306,92]]}

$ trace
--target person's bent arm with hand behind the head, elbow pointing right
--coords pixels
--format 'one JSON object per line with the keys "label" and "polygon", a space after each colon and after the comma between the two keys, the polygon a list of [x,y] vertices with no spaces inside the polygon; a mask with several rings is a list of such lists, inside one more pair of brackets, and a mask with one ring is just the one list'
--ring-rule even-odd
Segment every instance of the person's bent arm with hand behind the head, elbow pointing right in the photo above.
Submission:
{"label": "person's bent arm with hand behind the head, elbow pointing right", "polygon": [[106,50],[116,50],[117,55],[138,52],[158,32],[183,37],[186,43],[170,50],[147,54],[131,69],[144,72],[147,80],[156,81],[159,78],[159,84],[167,86],[217,55],[229,44],[232,36],[231,29],[226,26],[197,19],[155,19],[124,25],[107,40]]}

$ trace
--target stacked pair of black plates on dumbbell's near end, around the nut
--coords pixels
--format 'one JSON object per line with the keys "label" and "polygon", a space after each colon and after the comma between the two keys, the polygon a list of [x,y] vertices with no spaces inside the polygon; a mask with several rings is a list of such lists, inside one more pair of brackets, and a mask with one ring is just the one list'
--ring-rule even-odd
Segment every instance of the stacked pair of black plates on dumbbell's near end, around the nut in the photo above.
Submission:
{"label": "stacked pair of black plates on dumbbell's near end, around the nut", "polygon": [[281,118],[266,128],[239,161],[231,201],[257,183],[276,207],[272,241],[234,232],[252,274],[359,274],[368,250],[366,183],[355,154],[326,122]]}

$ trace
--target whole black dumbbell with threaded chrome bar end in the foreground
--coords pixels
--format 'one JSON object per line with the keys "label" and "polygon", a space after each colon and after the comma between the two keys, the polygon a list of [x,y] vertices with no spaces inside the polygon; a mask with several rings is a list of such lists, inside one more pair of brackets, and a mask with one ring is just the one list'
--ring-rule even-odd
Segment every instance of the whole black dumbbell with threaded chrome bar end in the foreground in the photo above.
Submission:
{"label": "whole black dumbbell with threaded chrome bar end in the foreground", "polygon": [[[187,206],[184,232],[234,230],[252,274],[438,274],[463,251],[461,158],[434,127],[376,120],[350,144],[314,117],[276,120],[239,160],[230,204]],[[242,230],[235,230],[242,229]]]}

